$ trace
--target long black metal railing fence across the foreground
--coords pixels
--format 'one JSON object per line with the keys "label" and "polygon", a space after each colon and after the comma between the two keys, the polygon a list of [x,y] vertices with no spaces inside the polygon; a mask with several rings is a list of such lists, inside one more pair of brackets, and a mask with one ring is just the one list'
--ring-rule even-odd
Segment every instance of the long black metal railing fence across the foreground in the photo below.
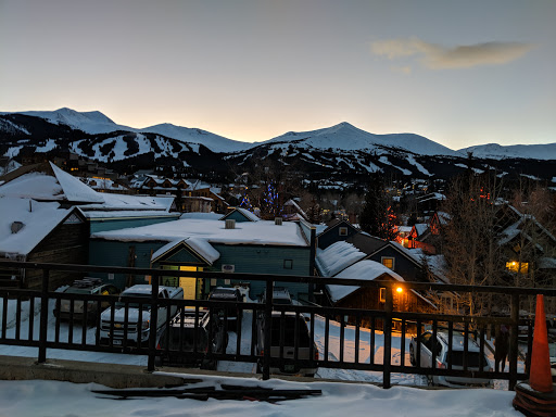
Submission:
{"label": "long black metal railing fence across the foreground", "polygon": [[[138,269],[138,268],[115,268],[90,265],[65,265],[65,264],[33,264],[12,261],[0,262],[2,268],[41,269],[42,287],[40,290],[24,289],[0,289],[2,298],[2,319],[0,344],[23,345],[38,348],[38,362],[47,359],[47,350],[65,349],[77,351],[115,352],[140,354],[148,356],[148,370],[155,369],[157,358],[168,354],[181,355],[187,359],[235,361],[257,364],[264,379],[268,379],[270,369],[358,369],[370,370],[382,374],[382,386],[391,387],[393,372],[420,374],[429,378],[480,378],[484,380],[502,379],[509,381],[509,389],[514,389],[517,380],[527,379],[525,371],[518,371],[519,341],[518,331],[521,327],[527,329],[526,340],[522,342],[522,350],[530,352],[532,343],[532,324],[530,319],[519,317],[519,302],[521,296],[534,295],[538,293],[547,296],[556,296],[556,290],[525,289],[525,288],[500,288],[500,287],[468,287],[437,283],[403,282],[406,290],[416,291],[451,291],[493,293],[509,298],[510,314],[508,317],[470,317],[466,315],[430,314],[396,312],[393,309],[393,282],[374,282],[357,279],[333,279],[318,277],[294,277],[277,275],[247,275],[247,274],[223,274],[223,273],[200,273],[188,271],[188,276],[203,279],[223,278],[233,281],[264,281],[267,291],[265,300],[257,302],[231,302],[231,301],[208,301],[208,300],[175,300],[159,298],[159,281],[162,275],[178,277],[180,271],[162,269]],[[49,275],[52,270],[65,270],[74,273],[97,273],[97,274],[129,274],[134,276],[152,277],[152,292],[144,296],[118,298],[117,295],[91,295],[65,293],[49,290]],[[379,288],[386,287],[384,309],[361,309],[361,308],[337,308],[318,305],[282,305],[273,304],[274,283],[280,282],[304,282],[316,287],[323,285],[358,286]],[[395,285],[400,285],[396,282]],[[52,311],[60,312],[61,305],[68,304],[67,326],[62,323],[61,314],[54,316]],[[134,309],[135,307],[135,309]],[[150,309],[149,321],[142,319],[143,313]],[[9,311],[15,309],[13,323],[8,323]],[[101,311],[104,320],[101,320]],[[159,314],[164,314],[166,324],[172,317],[177,317],[178,327],[184,329],[184,318],[193,311],[193,343],[192,349],[184,350],[185,341],[179,337],[176,346],[170,348],[168,332],[164,333],[159,329]],[[228,334],[231,323],[231,313],[237,312],[243,316],[243,320],[237,320],[235,332],[237,334],[236,346],[220,349],[213,343],[214,326],[216,321],[208,321],[207,334],[210,342],[203,346],[202,340],[198,337],[198,330],[203,326],[202,313],[207,311],[210,315],[219,313],[219,325],[223,326],[223,334]],[[37,314],[35,314],[37,312]],[[137,316],[134,316],[137,312]],[[249,320],[249,315],[251,319]],[[89,317],[90,315],[90,317]],[[25,324],[25,317],[29,317]],[[35,316],[38,316],[38,324]],[[110,318],[108,318],[110,317]],[[287,332],[285,329],[288,317],[295,317],[293,332],[295,336],[293,346],[286,342]],[[300,320],[302,318],[303,320]],[[315,326],[317,319],[324,323],[324,345],[315,345]],[[336,325],[336,320],[338,324]],[[102,323],[101,323],[102,321]],[[348,323],[350,321],[350,323]],[[146,325],[146,323],[148,323]],[[273,323],[278,330],[273,330]],[[279,323],[280,325],[276,325]],[[308,346],[299,339],[300,328],[303,323],[308,323],[309,334]],[[336,327],[332,327],[334,323]],[[363,327],[367,324],[367,328]],[[76,326],[79,324],[80,326]],[[89,327],[88,324],[93,326]],[[509,328],[509,370],[498,371],[488,369],[484,354],[492,349],[488,342],[488,329],[493,326],[506,325]],[[245,326],[247,325],[247,326]],[[37,329],[38,327],[38,329]],[[167,327],[167,325],[166,325]],[[67,336],[61,337],[61,329],[67,329]],[[393,361],[393,331],[399,329],[400,333],[400,357]],[[428,328],[425,339],[414,337],[409,343],[413,352],[407,352],[406,337],[418,336]],[[382,332],[379,331],[382,330]],[[119,331],[119,332],[118,332]],[[273,331],[279,342],[273,341]],[[331,332],[339,334],[334,338]],[[353,343],[346,342],[346,332],[353,332]],[[106,338],[101,337],[101,332]],[[129,334],[135,333],[135,339]],[[161,334],[165,334],[161,337]],[[181,334],[181,332],[179,332]],[[143,336],[147,336],[143,339]],[[166,344],[157,349],[157,344]],[[227,337],[226,337],[227,338]],[[382,338],[382,361],[376,357],[378,341]],[[334,340],[333,346],[331,340]],[[476,341],[476,343],[473,342]],[[243,341],[249,342],[245,349]],[[338,342],[336,342],[338,341]],[[430,341],[437,341],[430,343]],[[439,345],[444,341],[445,346]],[[446,351],[446,357],[455,357],[457,350],[455,341],[463,343],[460,364],[456,366],[453,359],[446,363],[435,361],[441,350]],[[102,343],[101,343],[102,342]],[[270,346],[278,344],[278,352]],[[303,349],[308,348],[308,355],[303,354]],[[320,349],[318,349],[320,348]],[[479,349],[479,363],[471,359],[470,352]],[[362,357],[362,350],[368,352],[368,357]],[[288,352],[289,353],[288,353]],[[332,352],[333,351],[333,352]],[[317,354],[318,352],[318,354]],[[408,365],[406,354],[409,353]],[[428,354],[428,356],[427,356]],[[525,357],[525,354],[521,356]]]}

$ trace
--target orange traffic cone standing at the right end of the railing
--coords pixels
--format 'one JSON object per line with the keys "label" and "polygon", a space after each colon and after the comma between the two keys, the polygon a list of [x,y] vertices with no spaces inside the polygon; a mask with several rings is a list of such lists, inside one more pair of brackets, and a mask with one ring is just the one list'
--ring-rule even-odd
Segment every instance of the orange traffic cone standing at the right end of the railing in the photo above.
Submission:
{"label": "orange traffic cone standing at the right end of the railing", "polygon": [[544,295],[536,295],[536,312],[534,318],[533,351],[529,384],[539,392],[552,392],[551,354],[548,352],[548,332],[544,315]]}

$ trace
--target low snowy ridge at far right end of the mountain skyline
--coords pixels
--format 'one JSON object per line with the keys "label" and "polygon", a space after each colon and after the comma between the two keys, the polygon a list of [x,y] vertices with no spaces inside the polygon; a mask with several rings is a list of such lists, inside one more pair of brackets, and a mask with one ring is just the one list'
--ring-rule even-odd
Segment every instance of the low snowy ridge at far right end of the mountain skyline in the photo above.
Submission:
{"label": "low snowy ridge at far right end of the mountain skyline", "polygon": [[556,143],[513,144],[508,147],[503,147],[497,143],[488,143],[464,148],[458,152],[464,156],[466,156],[468,152],[472,152],[475,157],[489,157],[494,160],[505,157],[556,160]]}

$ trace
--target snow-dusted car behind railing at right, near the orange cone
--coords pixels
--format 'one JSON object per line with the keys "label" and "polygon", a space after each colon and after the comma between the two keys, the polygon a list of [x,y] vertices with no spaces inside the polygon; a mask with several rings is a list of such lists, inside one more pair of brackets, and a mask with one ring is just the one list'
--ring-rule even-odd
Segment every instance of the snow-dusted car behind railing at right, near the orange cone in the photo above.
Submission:
{"label": "snow-dusted car behind railing at right, near the orange cone", "polygon": [[[452,363],[453,370],[464,369],[464,357],[467,357],[468,370],[480,370],[481,352],[476,340],[468,337],[468,351],[465,356],[465,334],[458,331],[452,333],[452,351],[448,352],[448,333],[439,331],[437,340],[434,341],[431,330],[425,331],[418,338],[412,338],[409,342],[409,359],[412,365],[417,365],[417,343],[420,342],[420,366],[424,368],[431,368],[432,361],[437,361],[435,367],[439,369],[447,369],[448,364]],[[437,356],[432,357],[432,344],[435,342]],[[492,371],[492,367],[483,355],[483,371]],[[431,384],[440,384],[452,388],[459,388],[466,386],[483,386],[491,387],[492,380],[484,378],[468,378],[468,377],[451,377],[451,376],[431,376],[428,377]]]}

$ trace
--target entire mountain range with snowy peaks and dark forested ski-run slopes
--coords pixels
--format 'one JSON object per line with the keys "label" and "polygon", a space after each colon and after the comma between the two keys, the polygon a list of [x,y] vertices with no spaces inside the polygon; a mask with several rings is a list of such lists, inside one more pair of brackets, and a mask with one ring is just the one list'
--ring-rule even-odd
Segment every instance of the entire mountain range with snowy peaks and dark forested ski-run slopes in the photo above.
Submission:
{"label": "entire mountain range with snowy peaks and dark forested ski-run slopes", "polygon": [[[419,135],[374,135],[345,122],[248,143],[172,124],[129,127],[101,112],[66,108],[0,113],[0,154],[63,151],[115,166],[177,164],[212,172],[230,164],[249,167],[270,159],[283,166],[295,163],[313,177],[329,179],[369,172],[442,178],[466,168],[494,167],[502,175],[514,173],[551,180],[548,173],[556,173],[556,143],[452,150]],[[471,153],[473,166],[469,163]]]}

